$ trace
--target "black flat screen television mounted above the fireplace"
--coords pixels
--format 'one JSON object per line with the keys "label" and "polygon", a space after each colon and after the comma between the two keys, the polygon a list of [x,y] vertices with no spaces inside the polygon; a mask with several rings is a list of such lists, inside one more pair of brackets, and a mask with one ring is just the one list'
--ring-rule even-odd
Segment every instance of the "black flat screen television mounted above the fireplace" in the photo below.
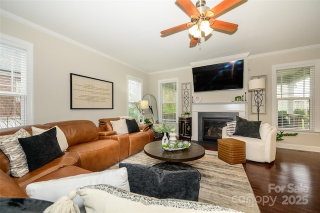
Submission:
{"label": "black flat screen television mounted above the fireplace", "polygon": [[192,68],[195,92],[243,88],[243,59]]}

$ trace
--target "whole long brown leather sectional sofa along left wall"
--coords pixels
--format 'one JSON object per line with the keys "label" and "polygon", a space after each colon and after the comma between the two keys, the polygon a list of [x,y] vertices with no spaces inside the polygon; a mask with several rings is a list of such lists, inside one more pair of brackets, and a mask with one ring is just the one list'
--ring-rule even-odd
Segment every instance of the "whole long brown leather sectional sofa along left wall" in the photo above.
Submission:
{"label": "whole long brown leather sectional sofa along left wall", "polygon": [[153,131],[147,125],[139,126],[143,130],[141,133],[116,134],[115,131],[100,126],[100,123],[99,127],[96,127],[90,120],[4,128],[0,129],[0,135],[13,134],[20,128],[26,129],[32,135],[31,126],[49,129],[55,125],[65,134],[69,147],[62,156],[22,177],[10,176],[9,159],[0,150],[0,197],[27,197],[25,187],[31,182],[103,170],[142,150],[142,144],[153,141]]}

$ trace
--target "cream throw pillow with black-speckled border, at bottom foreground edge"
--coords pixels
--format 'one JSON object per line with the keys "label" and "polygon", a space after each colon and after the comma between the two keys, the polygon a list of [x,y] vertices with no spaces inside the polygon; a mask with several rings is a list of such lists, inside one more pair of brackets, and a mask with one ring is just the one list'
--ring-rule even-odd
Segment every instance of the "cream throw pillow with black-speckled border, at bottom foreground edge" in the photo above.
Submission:
{"label": "cream throw pillow with black-speckled border, at bottom foreground edge", "polygon": [[[158,199],[132,193],[111,185],[88,185],[76,193],[83,199],[87,213],[91,212],[240,212],[213,204],[180,199]],[[56,202],[58,203],[58,202]],[[55,203],[54,203],[55,204]],[[53,205],[54,205],[53,204]],[[63,203],[64,204],[64,203]],[[52,207],[53,207],[52,205]],[[51,207],[51,206],[50,206]],[[62,204],[53,207],[61,208]]]}

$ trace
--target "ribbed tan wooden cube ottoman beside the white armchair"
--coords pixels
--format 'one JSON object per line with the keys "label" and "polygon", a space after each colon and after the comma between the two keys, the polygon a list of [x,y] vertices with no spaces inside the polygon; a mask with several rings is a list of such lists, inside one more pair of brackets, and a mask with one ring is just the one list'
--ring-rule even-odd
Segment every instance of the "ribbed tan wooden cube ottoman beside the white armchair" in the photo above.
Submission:
{"label": "ribbed tan wooden cube ottoman beside the white armchair", "polygon": [[218,158],[229,163],[245,162],[245,142],[233,138],[218,140]]}

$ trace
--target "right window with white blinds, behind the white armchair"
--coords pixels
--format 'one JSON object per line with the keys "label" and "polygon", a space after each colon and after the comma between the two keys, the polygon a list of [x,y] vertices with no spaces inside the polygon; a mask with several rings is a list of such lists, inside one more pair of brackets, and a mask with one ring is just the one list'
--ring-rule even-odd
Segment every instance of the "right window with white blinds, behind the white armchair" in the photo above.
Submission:
{"label": "right window with white blinds, behind the white armchair", "polygon": [[302,61],[273,66],[277,128],[303,131],[318,128],[316,64],[316,61]]}

